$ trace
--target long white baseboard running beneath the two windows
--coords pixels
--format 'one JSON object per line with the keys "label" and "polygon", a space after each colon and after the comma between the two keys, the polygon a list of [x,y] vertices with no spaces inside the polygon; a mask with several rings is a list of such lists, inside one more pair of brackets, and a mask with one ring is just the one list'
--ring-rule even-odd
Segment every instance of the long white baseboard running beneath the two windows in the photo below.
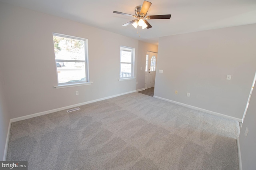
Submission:
{"label": "long white baseboard running beneath the two windows", "polygon": [[17,118],[10,119],[10,123],[17,122],[17,121],[22,121],[22,120],[25,120],[25,119],[30,119],[30,118],[38,117],[38,116],[42,116],[42,115],[47,115],[47,114],[50,114],[50,113],[54,113],[54,112],[70,109],[70,108],[73,108],[73,107],[78,107],[78,106],[86,105],[86,104],[89,104],[89,103],[94,103],[94,102],[97,102],[97,101],[102,101],[102,100],[110,99],[110,98],[113,98],[113,97],[118,97],[118,96],[121,96],[121,95],[126,95],[126,94],[129,94],[129,93],[134,93],[134,92],[136,92],[136,90],[128,91],[126,93],[121,93],[121,94],[118,94],[118,95],[112,95],[112,96],[108,96],[108,97],[103,97],[103,98],[100,98],[100,99],[96,99],[96,100],[92,100],[92,101],[87,101],[87,102],[84,102],[84,103],[78,103],[78,104],[75,104],[75,105],[70,105],[70,106],[61,107],[61,108],[57,108],[57,109],[52,109],[52,110],[49,110],[49,111],[44,111],[44,112],[40,112],[40,113],[34,113],[34,114],[31,114],[31,115],[17,117]]}

